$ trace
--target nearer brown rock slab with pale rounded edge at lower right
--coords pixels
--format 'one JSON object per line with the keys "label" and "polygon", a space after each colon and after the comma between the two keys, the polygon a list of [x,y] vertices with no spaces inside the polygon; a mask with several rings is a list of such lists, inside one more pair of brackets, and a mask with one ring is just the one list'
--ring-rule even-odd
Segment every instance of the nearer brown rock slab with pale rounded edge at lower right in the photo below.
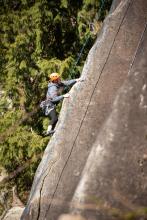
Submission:
{"label": "nearer brown rock slab with pale rounded edge at lower right", "polygon": [[114,208],[119,216],[147,206],[146,58],[147,27],[73,196],[71,211],[87,219],[114,219]]}

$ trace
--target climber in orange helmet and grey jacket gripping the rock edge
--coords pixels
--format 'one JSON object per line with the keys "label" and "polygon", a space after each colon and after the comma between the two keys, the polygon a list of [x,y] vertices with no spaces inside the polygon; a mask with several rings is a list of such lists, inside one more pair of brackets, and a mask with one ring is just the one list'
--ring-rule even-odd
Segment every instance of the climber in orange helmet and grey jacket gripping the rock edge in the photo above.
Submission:
{"label": "climber in orange helmet and grey jacket gripping the rock edge", "polygon": [[68,93],[62,95],[62,92],[65,92],[68,87],[73,86],[76,82],[83,81],[81,78],[61,81],[58,73],[51,73],[49,79],[50,81],[48,83],[46,100],[42,101],[40,104],[40,107],[44,110],[45,115],[49,116],[51,119],[47,131],[44,133],[45,136],[51,135],[55,132],[54,128],[58,121],[56,105],[64,98],[69,98]]}

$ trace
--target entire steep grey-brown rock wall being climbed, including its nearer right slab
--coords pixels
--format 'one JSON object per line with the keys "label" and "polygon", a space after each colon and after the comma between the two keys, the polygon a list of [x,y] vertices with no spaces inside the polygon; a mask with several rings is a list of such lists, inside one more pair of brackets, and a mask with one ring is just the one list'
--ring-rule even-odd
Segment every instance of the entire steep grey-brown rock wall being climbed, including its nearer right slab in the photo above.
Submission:
{"label": "entire steep grey-brown rock wall being climbed, including its nearer right slab", "polygon": [[[114,219],[147,204],[147,1],[115,1],[64,100],[22,220]],[[116,218],[117,219],[117,218]]]}

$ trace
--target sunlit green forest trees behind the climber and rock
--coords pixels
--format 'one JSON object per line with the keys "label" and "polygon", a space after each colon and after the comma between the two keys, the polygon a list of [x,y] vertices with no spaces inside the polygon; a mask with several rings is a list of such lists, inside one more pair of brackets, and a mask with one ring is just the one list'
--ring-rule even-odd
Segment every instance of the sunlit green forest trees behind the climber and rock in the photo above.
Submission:
{"label": "sunlit green forest trees behind the climber and rock", "polygon": [[80,76],[111,3],[0,0],[1,193],[16,185],[26,202],[50,139],[42,135],[49,119],[39,108],[49,74],[58,72],[62,79]]}

